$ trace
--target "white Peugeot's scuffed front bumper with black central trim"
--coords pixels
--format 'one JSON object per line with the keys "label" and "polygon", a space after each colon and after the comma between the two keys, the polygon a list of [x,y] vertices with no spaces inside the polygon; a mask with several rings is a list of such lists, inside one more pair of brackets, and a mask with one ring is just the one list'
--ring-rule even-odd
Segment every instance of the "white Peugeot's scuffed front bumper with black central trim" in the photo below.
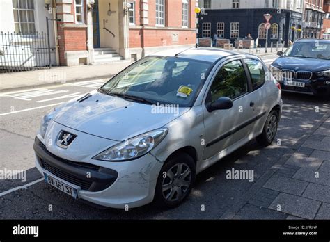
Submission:
{"label": "white Peugeot's scuffed front bumper with black central trim", "polygon": [[38,170],[78,187],[79,199],[113,208],[140,207],[153,200],[162,164],[151,154],[134,161],[107,162],[104,167],[62,159],[49,152],[38,138],[33,148]]}

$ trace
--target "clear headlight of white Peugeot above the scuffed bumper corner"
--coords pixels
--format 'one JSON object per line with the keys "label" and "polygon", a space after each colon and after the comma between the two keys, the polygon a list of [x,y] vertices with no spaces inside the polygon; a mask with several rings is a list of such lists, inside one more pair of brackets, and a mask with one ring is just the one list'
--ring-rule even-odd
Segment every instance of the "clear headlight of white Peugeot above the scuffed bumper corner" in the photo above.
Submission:
{"label": "clear headlight of white Peugeot above the scuffed bumper corner", "polygon": [[166,136],[168,129],[157,129],[134,138],[129,138],[108,150],[97,154],[93,159],[100,161],[129,161],[147,154]]}

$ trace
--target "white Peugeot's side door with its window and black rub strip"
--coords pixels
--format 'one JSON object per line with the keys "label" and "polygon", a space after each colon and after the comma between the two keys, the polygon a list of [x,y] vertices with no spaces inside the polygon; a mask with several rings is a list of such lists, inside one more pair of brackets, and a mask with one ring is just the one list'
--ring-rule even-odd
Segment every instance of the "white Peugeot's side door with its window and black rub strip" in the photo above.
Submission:
{"label": "white Peugeot's side door with its window and black rub strip", "polygon": [[[246,76],[246,68],[240,59],[221,65],[207,90],[203,105],[205,126],[205,147],[203,159],[225,150],[230,145],[249,135],[246,122],[253,120],[253,100],[251,84]],[[208,111],[207,104],[219,97],[230,97],[233,107],[228,110]]]}

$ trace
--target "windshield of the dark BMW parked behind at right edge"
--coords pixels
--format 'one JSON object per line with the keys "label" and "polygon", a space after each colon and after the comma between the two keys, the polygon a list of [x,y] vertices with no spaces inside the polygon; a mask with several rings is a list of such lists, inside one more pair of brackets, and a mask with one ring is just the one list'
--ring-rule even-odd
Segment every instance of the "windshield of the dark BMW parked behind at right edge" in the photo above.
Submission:
{"label": "windshield of the dark BMW parked behind at right edge", "polygon": [[295,42],[285,51],[284,56],[330,60],[330,42]]}

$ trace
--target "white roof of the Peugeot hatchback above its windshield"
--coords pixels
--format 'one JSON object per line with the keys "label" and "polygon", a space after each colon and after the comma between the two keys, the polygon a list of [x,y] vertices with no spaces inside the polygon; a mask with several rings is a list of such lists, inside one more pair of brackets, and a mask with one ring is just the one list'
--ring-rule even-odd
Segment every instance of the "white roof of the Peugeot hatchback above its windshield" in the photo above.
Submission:
{"label": "white roof of the Peugeot hatchback above its windshield", "polygon": [[[178,56],[181,58],[188,58],[197,61],[207,61],[210,63],[214,63],[218,61],[220,58],[239,55],[241,53],[237,53],[235,51],[226,51],[222,49],[215,48],[191,48],[191,49],[171,49],[166,51],[159,51],[154,54],[150,54],[150,56]],[[244,54],[245,55],[245,54]],[[249,55],[251,56],[251,55]]]}

